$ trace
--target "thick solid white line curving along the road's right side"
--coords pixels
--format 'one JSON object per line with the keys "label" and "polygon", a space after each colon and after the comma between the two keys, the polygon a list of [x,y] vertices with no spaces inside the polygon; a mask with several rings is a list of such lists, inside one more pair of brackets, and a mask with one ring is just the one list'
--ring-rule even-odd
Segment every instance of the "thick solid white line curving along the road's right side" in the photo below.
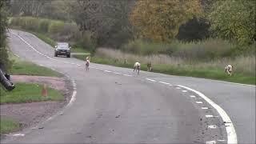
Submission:
{"label": "thick solid white line curving along the road's right side", "polygon": [[[237,138],[237,134],[234,130],[234,125],[233,125],[230,117],[226,114],[226,111],[223,110],[222,107],[218,106],[216,103],[214,103],[212,100],[210,100],[210,98],[207,98],[204,94],[198,92],[197,90],[190,89],[189,87],[186,87],[186,86],[181,86],[181,85],[178,85],[178,86],[183,87],[186,90],[193,91],[194,93],[198,94],[201,98],[203,98],[206,102],[208,102],[210,104],[210,106],[213,106],[214,109],[218,111],[218,114],[222,117],[222,120],[229,124],[229,126],[226,126],[227,143],[228,144],[231,144],[231,143],[237,144],[238,143],[238,138]],[[206,117],[207,117],[207,115],[206,115]]]}

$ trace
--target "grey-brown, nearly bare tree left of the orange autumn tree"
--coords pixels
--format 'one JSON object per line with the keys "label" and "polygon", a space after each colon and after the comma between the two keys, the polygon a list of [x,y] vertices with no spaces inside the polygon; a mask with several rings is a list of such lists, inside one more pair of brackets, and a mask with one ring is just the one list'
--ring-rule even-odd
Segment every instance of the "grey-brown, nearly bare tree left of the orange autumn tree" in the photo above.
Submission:
{"label": "grey-brown, nearly bare tree left of the orange autumn tree", "polygon": [[[98,45],[118,47],[132,37],[129,23],[134,0],[70,1],[69,12],[83,32],[90,31]],[[119,38],[118,42],[117,39]]]}

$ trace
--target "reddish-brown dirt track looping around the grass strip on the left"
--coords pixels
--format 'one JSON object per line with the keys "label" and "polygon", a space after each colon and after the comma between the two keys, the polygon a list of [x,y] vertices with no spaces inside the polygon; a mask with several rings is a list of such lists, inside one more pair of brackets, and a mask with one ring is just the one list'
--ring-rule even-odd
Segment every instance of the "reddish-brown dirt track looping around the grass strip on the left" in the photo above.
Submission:
{"label": "reddish-brown dirt track looping around the grass strip on the left", "polygon": [[20,122],[22,128],[35,126],[51,115],[56,114],[58,110],[61,110],[70,101],[73,92],[73,87],[68,78],[14,75],[11,77],[11,80],[14,83],[46,84],[46,86],[61,91],[65,97],[65,100],[62,102],[32,102],[0,105],[0,116],[17,120]]}

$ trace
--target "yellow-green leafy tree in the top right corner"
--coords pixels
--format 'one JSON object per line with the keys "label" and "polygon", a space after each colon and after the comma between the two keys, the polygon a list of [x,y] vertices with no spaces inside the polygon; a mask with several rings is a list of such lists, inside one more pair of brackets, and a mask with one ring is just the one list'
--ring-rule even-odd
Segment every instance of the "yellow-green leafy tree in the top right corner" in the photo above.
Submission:
{"label": "yellow-green leafy tree in the top right corner", "polygon": [[215,2],[208,16],[210,29],[217,37],[235,40],[241,45],[255,43],[255,7],[254,0]]}

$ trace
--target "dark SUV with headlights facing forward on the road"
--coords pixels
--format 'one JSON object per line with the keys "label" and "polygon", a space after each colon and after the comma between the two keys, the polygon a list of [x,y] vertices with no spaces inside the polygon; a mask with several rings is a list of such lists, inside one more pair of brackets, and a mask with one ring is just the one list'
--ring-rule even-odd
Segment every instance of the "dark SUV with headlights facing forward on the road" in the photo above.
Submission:
{"label": "dark SUV with headlights facing forward on the road", "polygon": [[70,46],[66,42],[58,42],[55,46],[54,57],[58,55],[66,55],[67,58],[70,58]]}

